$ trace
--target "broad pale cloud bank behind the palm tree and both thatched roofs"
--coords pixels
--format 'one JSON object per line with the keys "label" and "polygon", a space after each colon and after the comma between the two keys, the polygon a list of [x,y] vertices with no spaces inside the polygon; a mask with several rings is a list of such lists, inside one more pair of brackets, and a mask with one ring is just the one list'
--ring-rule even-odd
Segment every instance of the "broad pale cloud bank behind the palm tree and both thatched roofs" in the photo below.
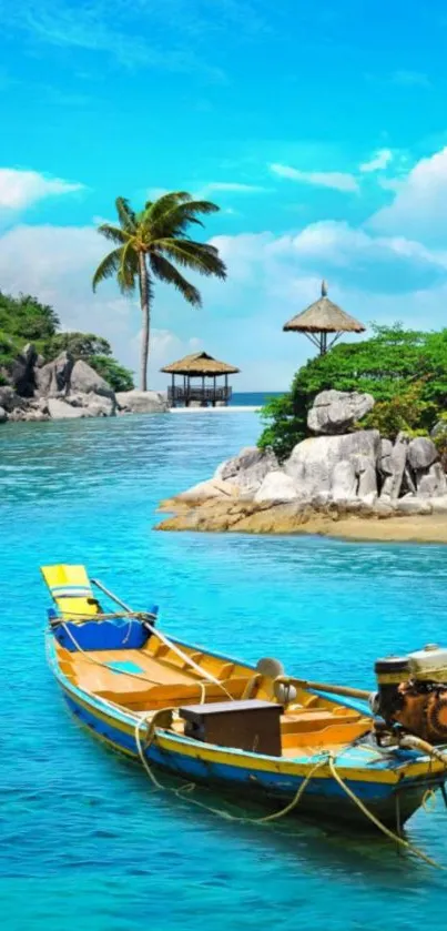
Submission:
{"label": "broad pale cloud bank behind the palm tree and both thatched roofs", "polygon": [[[403,320],[415,327],[444,325],[443,191],[447,194],[447,150],[419,162],[390,194],[390,206],[368,224],[325,220],[282,235],[266,231],[215,236],[212,242],[227,263],[228,279],[199,280],[203,310],[189,307],[171,289],[156,285],[151,385],[165,387],[166,376],[159,370],[203,347],[238,365],[238,389],[287,387],[313,350],[282,327],[317,297],[322,277],[328,279],[333,300],[366,324]],[[434,222],[438,241],[412,233],[413,227],[419,233],[431,230]],[[0,237],[2,290],[30,292],[53,304],[64,328],[104,335],[118,357],[138,372],[138,296],[124,300],[113,282],[95,295],[91,291],[91,275],[105,245],[92,226],[16,226]]]}

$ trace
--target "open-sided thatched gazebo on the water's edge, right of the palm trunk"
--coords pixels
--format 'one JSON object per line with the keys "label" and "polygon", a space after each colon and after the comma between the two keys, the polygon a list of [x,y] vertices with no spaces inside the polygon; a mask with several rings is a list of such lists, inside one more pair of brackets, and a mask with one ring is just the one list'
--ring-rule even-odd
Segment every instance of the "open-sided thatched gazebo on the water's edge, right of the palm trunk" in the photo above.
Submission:
{"label": "open-sided thatched gazebo on the water's edge, right of the palm trunk", "polygon": [[[192,353],[185,355],[179,362],[165,365],[162,372],[172,375],[172,383],[167,388],[167,399],[171,407],[184,404],[212,407],[226,405],[232,396],[232,388],[228,386],[228,375],[235,375],[240,370],[235,365],[227,365],[226,362],[219,362],[207,353]],[[175,375],[183,375],[183,384],[175,384]],[[223,385],[216,385],[216,378],[224,376]],[[192,378],[200,378],[199,384],[191,384]],[[212,384],[206,385],[205,378],[212,378]]]}

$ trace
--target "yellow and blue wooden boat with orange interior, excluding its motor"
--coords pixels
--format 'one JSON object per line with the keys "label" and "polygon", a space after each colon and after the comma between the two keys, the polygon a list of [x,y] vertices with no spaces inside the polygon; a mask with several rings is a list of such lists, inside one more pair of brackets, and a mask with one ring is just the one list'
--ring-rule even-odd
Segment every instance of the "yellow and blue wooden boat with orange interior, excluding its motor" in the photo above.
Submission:
{"label": "yellow and blue wooden boat with orange interior, excluding its motor", "polygon": [[439,760],[378,746],[365,701],[278,676],[272,660],[254,668],[167,637],[155,610],[135,615],[119,601],[124,610],[108,615],[82,566],[42,573],[55,603],[49,662],[70,710],[151,776],[161,768],[240,802],[262,797],[273,810],[364,828],[365,809],[396,828],[444,785]]}

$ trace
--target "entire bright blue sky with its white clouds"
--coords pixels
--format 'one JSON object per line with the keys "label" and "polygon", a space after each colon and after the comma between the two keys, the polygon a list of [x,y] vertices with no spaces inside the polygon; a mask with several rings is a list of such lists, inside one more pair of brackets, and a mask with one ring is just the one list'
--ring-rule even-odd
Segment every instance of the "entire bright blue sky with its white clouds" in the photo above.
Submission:
{"label": "entire bright blue sky with its white clouds", "polygon": [[[151,384],[195,348],[286,388],[319,281],[363,320],[447,320],[447,12],[438,0],[0,0],[0,287],[138,365],[139,307],[93,296],[120,194],[186,189],[228,281],[158,289]],[[106,245],[106,244],[105,244]],[[236,386],[236,382],[235,382]]]}

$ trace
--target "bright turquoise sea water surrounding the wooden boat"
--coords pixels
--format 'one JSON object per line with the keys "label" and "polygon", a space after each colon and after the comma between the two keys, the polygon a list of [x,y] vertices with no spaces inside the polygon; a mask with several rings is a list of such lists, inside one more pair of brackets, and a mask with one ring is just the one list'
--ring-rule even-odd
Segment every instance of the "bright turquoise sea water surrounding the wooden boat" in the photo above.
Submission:
{"label": "bright turquoise sea water surrounding the wooden boat", "polygon": [[[447,873],[313,823],[227,822],[169,795],[69,717],[45,666],[38,566],[87,561],[167,630],[289,671],[373,684],[374,659],[447,640],[446,550],[156,534],[160,498],[254,442],[256,415],[10,424],[0,432],[0,901],[14,931],[413,929]],[[202,790],[200,790],[202,791]],[[447,818],[408,836],[447,864]],[[439,919],[436,919],[439,921]]]}

